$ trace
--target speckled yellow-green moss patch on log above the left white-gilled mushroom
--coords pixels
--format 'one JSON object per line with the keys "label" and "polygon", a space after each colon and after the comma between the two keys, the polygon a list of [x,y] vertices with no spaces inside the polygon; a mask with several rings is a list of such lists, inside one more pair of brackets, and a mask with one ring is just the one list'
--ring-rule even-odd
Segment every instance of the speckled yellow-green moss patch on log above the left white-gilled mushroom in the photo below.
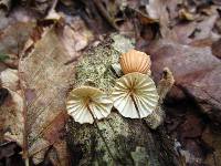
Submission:
{"label": "speckled yellow-green moss patch on log above the left white-gilled mushroom", "polygon": [[75,85],[91,85],[109,93],[116,79],[112,64],[117,63],[118,58],[119,52],[102,45],[85,54],[76,65]]}

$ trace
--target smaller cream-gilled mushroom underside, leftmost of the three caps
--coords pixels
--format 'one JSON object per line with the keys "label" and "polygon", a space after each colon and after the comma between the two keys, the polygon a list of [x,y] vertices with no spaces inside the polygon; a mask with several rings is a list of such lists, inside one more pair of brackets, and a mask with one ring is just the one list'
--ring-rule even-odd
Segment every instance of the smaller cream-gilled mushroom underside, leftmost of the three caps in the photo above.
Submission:
{"label": "smaller cream-gilled mushroom underside, leftmost of the three caps", "polygon": [[92,86],[81,86],[70,92],[66,101],[67,113],[75,122],[93,123],[94,118],[107,117],[113,107],[113,101],[103,91]]}

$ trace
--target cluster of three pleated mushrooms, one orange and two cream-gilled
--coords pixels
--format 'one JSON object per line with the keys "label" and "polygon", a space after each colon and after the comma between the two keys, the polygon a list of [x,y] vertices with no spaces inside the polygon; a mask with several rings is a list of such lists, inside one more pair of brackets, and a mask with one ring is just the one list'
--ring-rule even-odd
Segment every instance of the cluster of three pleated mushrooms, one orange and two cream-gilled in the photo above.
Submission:
{"label": "cluster of three pleated mushrooms, one orange and two cream-gilled", "polygon": [[110,114],[114,106],[124,117],[147,117],[157,107],[158,93],[150,79],[150,58],[130,50],[119,59],[125,75],[116,80],[112,95],[92,86],[76,87],[66,101],[67,113],[75,122],[93,124]]}

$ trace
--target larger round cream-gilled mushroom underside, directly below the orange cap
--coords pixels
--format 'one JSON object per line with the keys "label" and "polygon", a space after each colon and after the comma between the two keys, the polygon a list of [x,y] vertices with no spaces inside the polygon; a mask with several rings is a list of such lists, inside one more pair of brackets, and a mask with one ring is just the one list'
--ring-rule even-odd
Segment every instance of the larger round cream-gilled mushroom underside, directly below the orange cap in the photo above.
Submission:
{"label": "larger round cream-gilled mushroom underside, directly below the orange cap", "polygon": [[140,118],[151,114],[158,104],[155,82],[146,74],[126,74],[116,81],[113,91],[115,108],[125,117],[139,118],[130,94],[135,98]]}

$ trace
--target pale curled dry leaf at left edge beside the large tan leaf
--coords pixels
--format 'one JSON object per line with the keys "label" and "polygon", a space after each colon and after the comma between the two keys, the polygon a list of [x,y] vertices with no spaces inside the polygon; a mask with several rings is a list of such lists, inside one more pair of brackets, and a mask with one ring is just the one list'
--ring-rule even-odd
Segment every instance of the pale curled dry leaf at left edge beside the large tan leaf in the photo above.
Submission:
{"label": "pale curled dry leaf at left edge beside the large tan leaf", "polygon": [[[0,74],[1,86],[7,89],[9,95],[0,106],[1,141],[17,141],[21,146],[23,142],[23,98],[19,90],[19,76],[17,70],[7,69]],[[17,124],[17,125],[14,125]]]}

